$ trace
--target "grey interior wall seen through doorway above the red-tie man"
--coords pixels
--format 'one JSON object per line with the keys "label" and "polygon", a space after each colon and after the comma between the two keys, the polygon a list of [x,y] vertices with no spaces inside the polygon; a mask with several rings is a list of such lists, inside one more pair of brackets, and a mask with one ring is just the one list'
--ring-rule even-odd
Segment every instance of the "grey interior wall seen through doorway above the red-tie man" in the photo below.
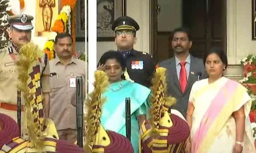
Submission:
{"label": "grey interior wall seen through doorway above the red-tie man", "polygon": [[182,25],[182,0],[158,0],[157,31],[173,31]]}

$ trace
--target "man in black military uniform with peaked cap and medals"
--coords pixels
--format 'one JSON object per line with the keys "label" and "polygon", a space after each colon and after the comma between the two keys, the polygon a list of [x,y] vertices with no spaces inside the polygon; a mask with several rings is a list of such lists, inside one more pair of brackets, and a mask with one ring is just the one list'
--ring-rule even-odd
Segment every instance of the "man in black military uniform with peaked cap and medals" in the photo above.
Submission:
{"label": "man in black military uniform with peaked cap and medals", "polygon": [[117,49],[125,58],[129,77],[136,83],[150,87],[156,63],[150,54],[133,48],[136,31],[139,30],[138,23],[129,16],[120,16],[114,21],[112,30],[115,31]]}

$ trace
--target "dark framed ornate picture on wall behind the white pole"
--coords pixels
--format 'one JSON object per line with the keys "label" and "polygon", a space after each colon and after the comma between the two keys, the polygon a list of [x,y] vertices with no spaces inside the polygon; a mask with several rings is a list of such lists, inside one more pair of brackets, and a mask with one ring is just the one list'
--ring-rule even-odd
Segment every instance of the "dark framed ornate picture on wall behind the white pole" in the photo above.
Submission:
{"label": "dark framed ornate picture on wall behind the white pole", "polygon": [[[97,41],[114,41],[115,33],[112,24],[125,12],[126,0],[97,0]],[[85,0],[77,1],[77,41],[84,41],[85,35]],[[88,18],[87,18],[88,19]],[[87,22],[88,23],[88,22]]]}

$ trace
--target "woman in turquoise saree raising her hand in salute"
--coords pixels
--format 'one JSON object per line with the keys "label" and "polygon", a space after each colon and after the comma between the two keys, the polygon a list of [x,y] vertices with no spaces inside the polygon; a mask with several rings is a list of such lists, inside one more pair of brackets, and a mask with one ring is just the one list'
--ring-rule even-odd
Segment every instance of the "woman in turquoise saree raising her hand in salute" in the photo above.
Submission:
{"label": "woman in turquoise saree raising her hand in salute", "polygon": [[131,99],[131,143],[134,152],[138,153],[139,128],[146,120],[150,89],[125,80],[125,69],[125,60],[117,51],[108,51],[100,58],[97,70],[106,72],[110,82],[109,88],[103,93],[106,102],[102,106],[100,119],[105,130],[126,136],[125,98],[129,97]]}

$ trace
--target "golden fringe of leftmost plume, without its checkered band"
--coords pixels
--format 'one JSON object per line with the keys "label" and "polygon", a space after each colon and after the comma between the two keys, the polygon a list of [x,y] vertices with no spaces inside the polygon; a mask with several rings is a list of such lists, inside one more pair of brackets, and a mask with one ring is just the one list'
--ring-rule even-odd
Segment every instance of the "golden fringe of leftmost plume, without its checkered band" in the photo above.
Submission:
{"label": "golden fringe of leftmost plume, without its checkered band", "polygon": [[[38,112],[33,111],[33,107],[38,106],[33,104],[35,92],[28,87],[28,84],[33,81],[29,74],[33,71],[33,67],[38,64],[38,59],[43,55],[44,53],[40,51],[37,45],[28,43],[19,49],[18,60],[16,62],[19,79],[17,88],[23,93],[25,99],[26,126],[29,142],[31,142],[32,147],[37,149],[39,153],[43,152],[44,147],[44,139],[41,131],[42,119],[39,119]],[[34,120],[38,122],[34,122]]]}

